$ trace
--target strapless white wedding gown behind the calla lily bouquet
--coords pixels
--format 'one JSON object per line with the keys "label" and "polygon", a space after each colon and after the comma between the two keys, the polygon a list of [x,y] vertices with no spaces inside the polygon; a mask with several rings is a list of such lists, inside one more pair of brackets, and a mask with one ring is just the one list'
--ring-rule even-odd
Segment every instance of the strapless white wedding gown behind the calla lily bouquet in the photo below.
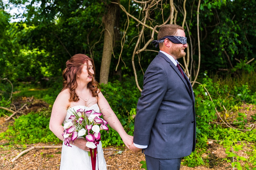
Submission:
{"label": "strapless white wedding gown behind the calla lily bouquet", "polygon": [[[71,120],[68,120],[68,118],[72,115],[71,109],[74,109],[74,110],[85,109],[86,111],[94,110],[95,112],[100,112],[98,104],[94,104],[91,107],[74,106],[67,110],[67,114],[63,123],[71,121]],[[60,170],[92,170],[91,157],[88,155],[88,152],[74,145],[71,145],[71,146],[72,147],[64,145],[64,142],[62,144]],[[107,170],[106,161],[103,156],[101,141],[99,145],[97,145],[97,147],[98,147],[98,154],[97,154],[98,158],[96,158],[96,169],[98,170],[98,165],[99,165],[99,170]]]}

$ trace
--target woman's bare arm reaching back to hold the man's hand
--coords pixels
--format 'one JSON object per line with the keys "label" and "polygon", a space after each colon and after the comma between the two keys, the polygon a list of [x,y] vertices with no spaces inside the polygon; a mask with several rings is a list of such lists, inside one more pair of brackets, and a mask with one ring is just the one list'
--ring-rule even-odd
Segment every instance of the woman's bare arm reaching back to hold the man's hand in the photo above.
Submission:
{"label": "woman's bare arm reaching back to hold the man's hand", "polygon": [[109,106],[108,101],[105,99],[101,92],[99,93],[98,97],[98,105],[101,109],[101,113],[103,114],[103,118],[116,132],[118,132],[126,147],[130,149],[129,146],[133,143],[133,136],[130,136],[125,132],[122,124],[116,117],[115,113]]}

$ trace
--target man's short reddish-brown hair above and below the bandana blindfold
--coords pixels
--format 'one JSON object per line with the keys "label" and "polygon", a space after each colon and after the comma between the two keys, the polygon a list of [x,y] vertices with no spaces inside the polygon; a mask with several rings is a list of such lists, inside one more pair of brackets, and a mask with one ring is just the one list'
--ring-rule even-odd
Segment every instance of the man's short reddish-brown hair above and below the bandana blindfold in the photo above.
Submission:
{"label": "man's short reddish-brown hair above and below the bandana blindfold", "polygon": [[[175,24],[166,24],[163,25],[158,32],[157,35],[157,40],[159,40],[160,38],[163,38],[165,36],[168,35],[175,35],[177,33],[177,30],[183,30],[185,31],[185,29],[179,25],[175,25]],[[164,43],[159,43],[159,48],[163,47]]]}

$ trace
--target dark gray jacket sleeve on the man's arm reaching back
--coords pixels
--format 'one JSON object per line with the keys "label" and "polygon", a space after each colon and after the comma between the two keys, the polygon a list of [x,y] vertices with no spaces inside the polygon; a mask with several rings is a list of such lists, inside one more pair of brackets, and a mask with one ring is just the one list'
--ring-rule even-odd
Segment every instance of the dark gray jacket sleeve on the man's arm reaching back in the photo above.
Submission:
{"label": "dark gray jacket sleeve on the man's arm reaching back", "polygon": [[137,103],[134,124],[134,143],[148,145],[156,114],[167,91],[167,75],[159,63],[148,67],[144,75],[143,90]]}

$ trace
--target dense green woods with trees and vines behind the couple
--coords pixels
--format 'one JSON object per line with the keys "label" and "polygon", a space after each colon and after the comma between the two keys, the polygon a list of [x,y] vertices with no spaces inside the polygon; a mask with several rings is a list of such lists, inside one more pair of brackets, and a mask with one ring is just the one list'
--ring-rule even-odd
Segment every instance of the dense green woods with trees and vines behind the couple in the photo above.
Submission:
{"label": "dense green woods with trees and vines behind the couple", "polygon": [[[78,53],[93,58],[103,95],[132,135],[143,75],[159,50],[150,42],[170,23],[186,30],[187,55],[179,62],[196,100],[197,148],[182,164],[209,166],[202,155],[214,141],[227,148],[221,161],[255,170],[255,5],[255,0],[0,1],[0,116],[12,115],[3,108],[44,106],[15,115],[0,134],[7,141],[1,147],[60,142],[49,130],[49,117],[65,63]],[[24,13],[8,13],[16,7]],[[26,100],[32,96],[34,102]],[[103,146],[123,145],[111,128],[102,138]],[[243,148],[249,148],[247,157],[236,153]]]}

